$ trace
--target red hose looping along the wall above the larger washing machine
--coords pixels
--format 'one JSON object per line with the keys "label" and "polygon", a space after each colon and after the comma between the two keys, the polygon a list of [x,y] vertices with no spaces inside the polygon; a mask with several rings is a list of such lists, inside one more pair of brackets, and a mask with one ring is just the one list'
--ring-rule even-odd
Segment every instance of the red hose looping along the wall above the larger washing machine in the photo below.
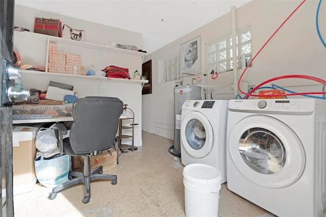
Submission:
{"label": "red hose looping along the wall above the larger washing machine", "polygon": [[[238,81],[238,90],[242,93],[242,94],[246,94],[246,97],[244,99],[248,99],[249,96],[260,96],[260,95],[255,95],[252,94],[254,91],[256,91],[259,87],[261,87],[262,85],[269,83],[269,82],[273,82],[274,80],[279,80],[279,79],[283,79],[283,78],[304,78],[304,79],[309,79],[309,80],[314,80],[316,82],[319,82],[323,85],[326,85],[326,81],[321,79],[321,78],[317,78],[317,77],[313,77],[313,76],[308,76],[308,75],[282,75],[282,76],[278,76],[278,77],[274,77],[271,79],[266,80],[265,82],[257,85],[254,89],[252,89],[250,91],[250,93],[246,93],[243,92],[240,89],[240,80],[243,77],[244,72],[247,71],[247,69],[250,67],[251,63],[256,59],[256,57],[258,56],[258,54],[261,52],[261,50],[266,46],[266,44],[270,41],[271,38],[273,38],[275,36],[275,34],[282,28],[282,26],[288,21],[288,19],[297,11],[298,8],[300,8],[304,3],[306,2],[306,0],[302,1],[302,3],[300,5],[298,5],[294,11],[282,22],[282,24],[279,26],[279,28],[273,33],[273,35],[271,35],[269,37],[269,39],[264,43],[264,45],[259,49],[259,51],[256,53],[256,55],[254,56],[254,58],[249,62],[249,64],[247,65],[247,67],[243,70],[239,81]],[[280,94],[280,95],[273,95],[273,96],[293,96],[293,95],[310,95],[310,94],[325,94],[324,92],[308,92],[308,93],[288,93],[288,94]]]}

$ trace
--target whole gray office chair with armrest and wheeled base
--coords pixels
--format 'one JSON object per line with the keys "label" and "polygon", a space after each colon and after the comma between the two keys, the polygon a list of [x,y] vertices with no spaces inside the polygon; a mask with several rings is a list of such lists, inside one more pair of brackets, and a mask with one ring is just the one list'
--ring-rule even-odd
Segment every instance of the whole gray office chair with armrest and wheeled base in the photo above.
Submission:
{"label": "whole gray office chair with armrest and wheeled base", "polygon": [[115,145],[118,130],[119,117],[123,110],[123,102],[114,97],[89,96],[77,99],[72,105],[73,122],[70,128],[69,138],[62,139],[67,134],[65,125],[58,123],[55,126],[58,136],[58,145],[61,154],[84,157],[84,171],[69,172],[69,180],[52,189],[48,199],[53,200],[57,193],[74,184],[84,183],[86,196],[83,203],[88,203],[91,198],[90,182],[96,179],[112,180],[117,184],[116,175],[102,174],[102,166],[91,171],[90,156],[101,154],[102,151],[110,149]]}

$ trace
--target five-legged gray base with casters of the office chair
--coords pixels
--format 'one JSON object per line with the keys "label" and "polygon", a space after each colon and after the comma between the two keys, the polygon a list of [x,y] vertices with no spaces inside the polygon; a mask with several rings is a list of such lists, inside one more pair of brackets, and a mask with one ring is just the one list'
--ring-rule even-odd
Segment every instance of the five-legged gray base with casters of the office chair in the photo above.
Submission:
{"label": "five-legged gray base with casters of the office chair", "polygon": [[[68,176],[69,179],[71,180],[61,185],[58,185],[56,187],[53,187],[52,192],[49,193],[48,199],[50,200],[55,199],[57,197],[57,193],[61,192],[66,188],[69,188],[72,185],[84,183],[86,196],[83,198],[83,203],[88,203],[90,202],[91,199],[91,186],[90,186],[91,181],[106,179],[106,180],[112,180],[111,183],[114,185],[117,184],[116,175],[102,174],[102,173],[103,173],[102,166],[99,166],[91,171],[90,156],[89,155],[84,156],[84,173],[75,172],[75,171],[69,172]],[[77,178],[72,179],[72,177],[77,177]]]}

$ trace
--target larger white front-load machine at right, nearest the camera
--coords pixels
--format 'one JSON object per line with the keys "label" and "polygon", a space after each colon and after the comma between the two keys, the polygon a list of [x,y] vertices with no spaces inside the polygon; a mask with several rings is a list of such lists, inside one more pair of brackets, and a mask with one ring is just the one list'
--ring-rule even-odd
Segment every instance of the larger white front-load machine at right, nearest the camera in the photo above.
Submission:
{"label": "larger white front-load machine at right, nearest the camera", "polygon": [[230,100],[228,188],[278,216],[324,216],[325,102]]}

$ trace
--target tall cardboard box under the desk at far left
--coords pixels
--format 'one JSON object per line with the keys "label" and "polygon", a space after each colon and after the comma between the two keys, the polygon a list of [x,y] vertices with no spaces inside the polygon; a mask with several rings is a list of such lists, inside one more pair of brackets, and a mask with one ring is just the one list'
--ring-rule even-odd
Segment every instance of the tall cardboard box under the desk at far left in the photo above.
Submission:
{"label": "tall cardboard box under the desk at far left", "polygon": [[14,126],[13,142],[13,194],[32,192],[36,184],[34,158],[35,137],[38,127]]}

